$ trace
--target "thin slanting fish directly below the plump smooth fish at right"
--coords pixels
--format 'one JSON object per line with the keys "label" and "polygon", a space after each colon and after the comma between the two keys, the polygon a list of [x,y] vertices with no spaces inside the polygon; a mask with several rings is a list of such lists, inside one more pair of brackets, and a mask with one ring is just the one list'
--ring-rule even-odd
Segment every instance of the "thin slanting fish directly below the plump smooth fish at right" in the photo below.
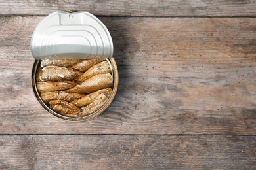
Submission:
{"label": "thin slanting fish directly below the plump smooth fish at right", "polygon": [[92,103],[96,99],[96,97],[98,97],[101,93],[104,93],[106,97],[109,97],[111,92],[112,92],[111,88],[104,88],[102,90],[98,90],[96,92],[90,93],[89,95],[86,95],[81,99],[75,99],[70,103],[76,105],[77,107],[83,107]]}

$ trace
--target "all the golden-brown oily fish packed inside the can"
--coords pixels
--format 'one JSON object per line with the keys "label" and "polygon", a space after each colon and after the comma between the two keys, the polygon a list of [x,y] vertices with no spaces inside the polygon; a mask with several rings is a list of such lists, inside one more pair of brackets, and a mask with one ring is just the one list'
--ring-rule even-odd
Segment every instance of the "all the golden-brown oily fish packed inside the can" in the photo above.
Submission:
{"label": "all the golden-brown oily fish packed inside the can", "polygon": [[36,86],[49,107],[73,118],[100,109],[112,93],[113,77],[106,59],[41,61]]}

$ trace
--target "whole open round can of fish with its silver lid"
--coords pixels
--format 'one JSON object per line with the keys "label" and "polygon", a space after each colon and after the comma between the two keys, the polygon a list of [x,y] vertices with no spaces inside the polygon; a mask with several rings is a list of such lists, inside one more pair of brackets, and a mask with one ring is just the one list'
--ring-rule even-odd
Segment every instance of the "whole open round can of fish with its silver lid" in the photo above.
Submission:
{"label": "whole open round can of fish with its silver lid", "polygon": [[104,24],[88,12],[71,14],[54,12],[33,32],[32,87],[50,114],[64,120],[89,120],[112,103],[118,86],[117,65]]}

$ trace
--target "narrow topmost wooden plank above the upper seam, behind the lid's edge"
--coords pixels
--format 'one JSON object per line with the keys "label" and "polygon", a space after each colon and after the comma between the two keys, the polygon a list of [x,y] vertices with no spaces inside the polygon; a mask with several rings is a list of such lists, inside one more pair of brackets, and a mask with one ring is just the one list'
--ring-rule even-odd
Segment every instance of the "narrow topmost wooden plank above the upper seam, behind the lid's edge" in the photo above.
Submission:
{"label": "narrow topmost wooden plank above the upper seam, behind the lid's edge", "polygon": [[48,15],[57,10],[86,10],[99,16],[255,16],[256,1],[9,1],[0,15]]}

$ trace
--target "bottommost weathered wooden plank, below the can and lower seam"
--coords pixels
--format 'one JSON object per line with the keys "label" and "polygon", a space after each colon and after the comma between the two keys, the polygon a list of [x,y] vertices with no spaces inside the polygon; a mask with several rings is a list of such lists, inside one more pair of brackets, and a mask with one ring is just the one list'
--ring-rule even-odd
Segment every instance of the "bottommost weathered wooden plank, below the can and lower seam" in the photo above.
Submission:
{"label": "bottommost weathered wooden plank, below the can and lower seam", "polygon": [[255,169],[252,136],[0,137],[1,169]]}

